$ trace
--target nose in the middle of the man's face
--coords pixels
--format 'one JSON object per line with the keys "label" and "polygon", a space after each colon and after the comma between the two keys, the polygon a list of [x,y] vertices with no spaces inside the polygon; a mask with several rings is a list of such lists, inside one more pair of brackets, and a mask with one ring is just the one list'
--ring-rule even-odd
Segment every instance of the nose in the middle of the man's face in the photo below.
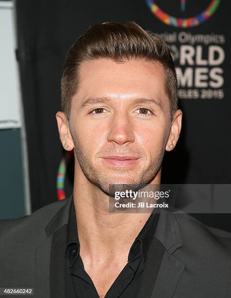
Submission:
{"label": "nose in the middle of the man's face", "polygon": [[135,141],[133,133],[132,119],[126,114],[126,112],[118,112],[113,115],[110,121],[110,128],[107,134],[107,141],[118,144],[128,145]]}

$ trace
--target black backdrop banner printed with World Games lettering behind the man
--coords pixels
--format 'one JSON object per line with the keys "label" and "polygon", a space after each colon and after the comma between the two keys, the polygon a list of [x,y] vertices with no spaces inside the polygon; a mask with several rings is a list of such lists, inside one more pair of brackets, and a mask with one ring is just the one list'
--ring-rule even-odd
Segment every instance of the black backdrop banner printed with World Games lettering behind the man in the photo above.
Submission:
{"label": "black backdrop banner printed with World Games lettering behind the man", "polygon": [[[92,23],[135,21],[170,47],[183,128],[164,157],[162,183],[231,183],[230,9],[225,0],[17,0],[18,61],[32,209],[69,196],[73,156],[56,128],[68,48]],[[210,224],[227,228],[230,215]],[[217,215],[218,216],[218,215]],[[219,227],[219,226],[218,226]]]}

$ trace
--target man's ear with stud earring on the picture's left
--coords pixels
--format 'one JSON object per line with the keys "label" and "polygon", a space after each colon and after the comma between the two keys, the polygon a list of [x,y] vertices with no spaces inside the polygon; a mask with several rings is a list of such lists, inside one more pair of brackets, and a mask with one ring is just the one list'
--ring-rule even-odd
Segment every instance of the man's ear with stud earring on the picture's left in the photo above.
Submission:
{"label": "man's ear with stud earring on the picture's left", "polygon": [[74,142],[71,137],[69,123],[64,112],[56,112],[56,120],[59,131],[59,138],[65,150],[71,151],[74,148]]}

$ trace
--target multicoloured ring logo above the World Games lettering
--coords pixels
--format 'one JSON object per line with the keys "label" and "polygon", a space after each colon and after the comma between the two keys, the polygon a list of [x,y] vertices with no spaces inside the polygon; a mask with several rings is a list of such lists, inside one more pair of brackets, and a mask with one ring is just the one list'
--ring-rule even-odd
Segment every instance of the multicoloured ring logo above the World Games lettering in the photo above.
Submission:
{"label": "multicoloured ring logo above the World Games lettering", "polygon": [[[195,27],[203,23],[207,19],[209,19],[216,11],[221,0],[212,0],[208,5],[208,7],[202,13],[200,13],[196,17],[186,18],[186,19],[175,18],[166,14],[160,9],[160,7],[156,4],[156,1],[154,0],[146,0],[146,2],[149,8],[151,9],[152,13],[166,25],[188,28],[188,27]],[[186,5],[186,0],[181,0],[181,11],[185,10],[185,5]]]}

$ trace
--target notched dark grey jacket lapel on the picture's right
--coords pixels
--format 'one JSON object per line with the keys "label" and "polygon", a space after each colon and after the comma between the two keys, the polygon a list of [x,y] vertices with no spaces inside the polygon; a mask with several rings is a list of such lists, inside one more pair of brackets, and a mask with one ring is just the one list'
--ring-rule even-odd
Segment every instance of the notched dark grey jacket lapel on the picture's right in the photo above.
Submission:
{"label": "notched dark grey jacket lapel on the picture's right", "polygon": [[173,256],[173,253],[182,246],[178,223],[173,213],[160,209],[155,237],[163,244],[166,251],[151,298],[172,298],[185,268],[185,264]]}

